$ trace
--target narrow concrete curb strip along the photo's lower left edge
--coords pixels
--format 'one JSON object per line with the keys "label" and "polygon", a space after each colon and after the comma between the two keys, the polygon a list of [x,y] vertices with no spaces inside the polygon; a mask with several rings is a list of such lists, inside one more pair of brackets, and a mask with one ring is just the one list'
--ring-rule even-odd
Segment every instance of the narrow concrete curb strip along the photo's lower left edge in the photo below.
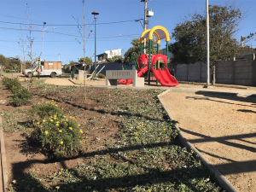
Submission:
{"label": "narrow concrete curb strip along the photo's lower left edge", "polygon": [[[4,140],[3,140],[3,126],[2,126],[2,117],[0,116],[0,150],[1,150],[1,183],[3,192],[7,191],[7,184],[8,184],[8,175],[7,175],[7,166],[6,166],[6,156],[5,156],[5,147],[4,147]],[[0,190],[1,190],[0,189]],[[2,191],[2,190],[1,190]]]}

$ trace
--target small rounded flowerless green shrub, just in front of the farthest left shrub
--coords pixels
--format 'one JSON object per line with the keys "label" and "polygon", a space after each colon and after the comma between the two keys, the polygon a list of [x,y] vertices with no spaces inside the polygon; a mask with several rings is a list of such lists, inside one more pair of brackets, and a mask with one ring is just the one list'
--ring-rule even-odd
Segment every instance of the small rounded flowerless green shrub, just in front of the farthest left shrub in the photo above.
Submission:
{"label": "small rounded flowerless green shrub, just in front of the farthest left shrub", "polygon": [[11,92],[14,94],[14,96],[10,99],[10,101],[14,107],[26,105],[26,103],[32,99],[32,93],[30,93],[24,87],[14,87]]}

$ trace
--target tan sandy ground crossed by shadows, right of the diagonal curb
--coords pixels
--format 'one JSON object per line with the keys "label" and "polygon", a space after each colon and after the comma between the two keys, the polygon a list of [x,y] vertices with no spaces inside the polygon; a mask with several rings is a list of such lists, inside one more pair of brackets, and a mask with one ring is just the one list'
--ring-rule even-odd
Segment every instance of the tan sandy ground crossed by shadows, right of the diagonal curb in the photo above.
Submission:
{"label": "tan sandy ground crossed by shadows, right of the diagonal curb", "polygon": [[256,97],[172,90],[161,99],[189,142],[236,189],[256,191]]}

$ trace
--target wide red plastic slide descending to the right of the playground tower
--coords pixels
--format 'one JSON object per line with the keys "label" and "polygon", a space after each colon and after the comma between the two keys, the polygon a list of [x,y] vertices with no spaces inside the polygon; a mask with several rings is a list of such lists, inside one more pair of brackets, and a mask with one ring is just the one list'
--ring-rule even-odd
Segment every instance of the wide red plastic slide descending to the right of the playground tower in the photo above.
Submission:
{"label": "wide red plastic slide descending to the right of the playground tower", "polygon": [[163,71],[161,71],[160,68],[154,70],[154,67],[150,67],[150,70],[154,73],[154,77],[162,86],[175,87],[178,84],[177,79],[172,78],[172,75],[166,67]]}

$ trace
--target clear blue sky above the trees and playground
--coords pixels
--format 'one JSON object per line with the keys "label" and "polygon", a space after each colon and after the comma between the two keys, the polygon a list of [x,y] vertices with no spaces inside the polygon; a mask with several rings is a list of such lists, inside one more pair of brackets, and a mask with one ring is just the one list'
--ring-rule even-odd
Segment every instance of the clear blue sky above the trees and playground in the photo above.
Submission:
{"label": "clear blue sky above the trees and playground", "polygon": [[[226,0],[209,0],[209,4],[224,5]],[[233,3],[234,0],[230,0]],[[44,31],[44,59],[45,61],[59,61],[63,64],[68,61],[78,61],[83,57],[83,45],[75,39],[80,38],[77,19],[83,22],[82,0],[0,0],[0,54],[7,57],[20,56],[23,60],[23,51],[18,42],[20,41],[21,30],[23,39],[28,35],[28,20],[26,18],[26,3],[29,7],[29,19],[32,26],[47,28]],[[241,22],[241,31],[236,34],[240,39],[241,35],[247,36],[250,32],[256,32],[256,1],[236,0],[236,6],[240,7],[247,17]],[[96,54],[104,53],[109,49],[122,49],[122,54],[131,47],[131,39],[139,38],[143,32],[140,22],[134,20],[143,19],[144,3],[140,0],[85,0],[85,23],[90,30],[90,37],[85,44],[85,55],[92,56],[95,52],[95,32],[93,15],[97,11],[96,20]],[[189,13],[202,12],[206,9],[205,0],[152,0],[148,1],[148,9],[152,9],[154,16],[149,18],[149,27],[164,26],[168,32]],[[17,24],[14,24],[17,23]],[[20,25],[21,23],[21,25]],[[143,20],[142,20],[143,23]],[[68,25],[68,26],[63,26]],[[38,27],[32,28],[32,53],[36,56],[42,52],[42,30]],[[172,38],[171,38],[172,42]],[[165,48],[162,40],[160,48]],[[249,45],[256,47],[256,42]],[[26,49],[26,53],[28,49]],[[26,54],[26,59],[28,59]]]}

